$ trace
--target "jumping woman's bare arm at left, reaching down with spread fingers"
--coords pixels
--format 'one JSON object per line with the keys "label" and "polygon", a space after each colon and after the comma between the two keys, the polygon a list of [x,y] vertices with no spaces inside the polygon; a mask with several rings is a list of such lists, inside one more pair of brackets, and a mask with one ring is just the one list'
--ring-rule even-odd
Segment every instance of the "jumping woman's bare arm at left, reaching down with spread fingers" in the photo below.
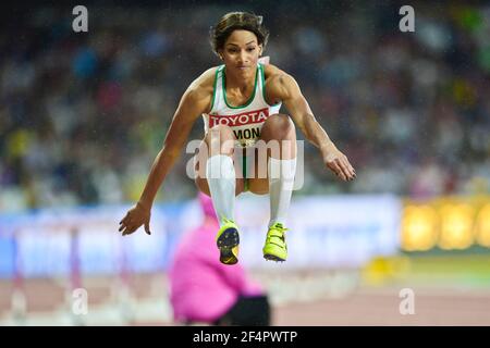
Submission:
{"label": "jumping woman's bare arm at left, reaching down with spread fingers", "polygon": [[216,67],[205,72],[188,86],[182,96],[163,141],[163,147],[158,152],[151,166],[145,189],[138,202],[127,211],[120,222],[119,231],[122,232],[123,236],[132,234],[142,225],[145,225],[145,232],[150,234],[150,211],[157,191],[175,160],[182,153],[194,122],[203,113],[208,112],[211,107],[215,72]]}

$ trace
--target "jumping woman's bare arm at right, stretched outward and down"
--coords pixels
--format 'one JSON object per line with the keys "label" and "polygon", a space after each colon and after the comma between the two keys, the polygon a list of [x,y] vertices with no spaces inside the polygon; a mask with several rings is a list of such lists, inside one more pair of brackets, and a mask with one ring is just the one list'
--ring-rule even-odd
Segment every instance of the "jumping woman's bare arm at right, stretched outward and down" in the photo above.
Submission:
{"label": "jumping woman's bare arm at right, stretched outward and down", "polygon": [[330,140],[327,132],[315,119],[305,97],[302,95],[296,80],[274,65],[266,65],[266,98],[270,104],[282,101],[294,123],[299,127],[306,139],[321,152],[327,167],[343,181],[352,181],[356,173],[335,145]]}

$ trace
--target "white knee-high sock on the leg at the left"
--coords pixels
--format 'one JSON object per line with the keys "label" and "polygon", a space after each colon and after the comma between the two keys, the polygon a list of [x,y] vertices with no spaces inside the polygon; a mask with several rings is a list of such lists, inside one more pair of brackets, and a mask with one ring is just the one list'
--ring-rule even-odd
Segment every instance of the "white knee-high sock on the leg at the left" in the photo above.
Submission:
{"label": "white knee-high sock on the leg at the left", "polygon": [[223,225],[224,219],[234,221],[235,167],[225,154],[216,154],[206,162],[206,177],[216,214]]}

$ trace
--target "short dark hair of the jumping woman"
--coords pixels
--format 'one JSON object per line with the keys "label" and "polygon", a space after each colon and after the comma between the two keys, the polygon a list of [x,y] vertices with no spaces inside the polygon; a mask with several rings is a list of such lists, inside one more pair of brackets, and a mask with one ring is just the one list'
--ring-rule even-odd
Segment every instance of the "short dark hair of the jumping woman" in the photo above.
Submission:
{"label": "short dark hair of the jumping woman", "polygon": [[211,26],[209,32],[212,50],[218,57],[218,51],[224,48],[224,42],[236,29],[254,33],[258,45],[262,45],[264,52],[269,39],[269,30],[262,25],[262,16],[248,12],[230,12],[223,15],[217,25]]}

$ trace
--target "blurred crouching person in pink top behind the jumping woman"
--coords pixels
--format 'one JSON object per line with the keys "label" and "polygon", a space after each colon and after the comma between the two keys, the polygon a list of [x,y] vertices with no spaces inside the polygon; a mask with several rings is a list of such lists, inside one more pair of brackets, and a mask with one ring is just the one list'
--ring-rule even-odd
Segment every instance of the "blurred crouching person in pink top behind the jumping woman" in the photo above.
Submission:
{"label": "blurred crouching person in pink top behind the jumping woman", "polygon": [[169,269],[170,300],[180,323],[269,325],[269,302],[262,287],[240,264],[219,261],[219,223],[211,199],[198,200],[203,224],[186,233]]}

